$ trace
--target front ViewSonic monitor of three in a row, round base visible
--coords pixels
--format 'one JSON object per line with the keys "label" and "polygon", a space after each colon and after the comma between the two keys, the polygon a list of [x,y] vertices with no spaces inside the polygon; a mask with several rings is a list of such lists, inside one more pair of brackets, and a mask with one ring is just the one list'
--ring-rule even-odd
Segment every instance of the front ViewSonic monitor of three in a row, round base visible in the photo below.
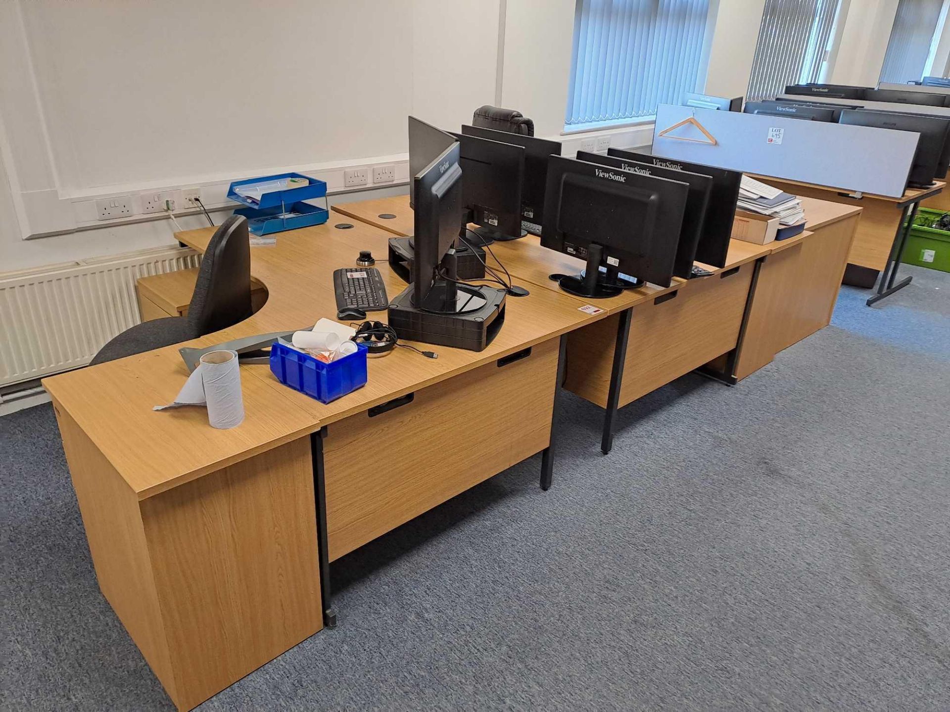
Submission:
{"label": "front ViewSonic monitor of three in a row, round base visible", "polygon": [[619,272],[669,287],[688,192],[680,181],[552,156],[541,244],[587,262],[583,277],[558,275],[561,289],[616,296]]}

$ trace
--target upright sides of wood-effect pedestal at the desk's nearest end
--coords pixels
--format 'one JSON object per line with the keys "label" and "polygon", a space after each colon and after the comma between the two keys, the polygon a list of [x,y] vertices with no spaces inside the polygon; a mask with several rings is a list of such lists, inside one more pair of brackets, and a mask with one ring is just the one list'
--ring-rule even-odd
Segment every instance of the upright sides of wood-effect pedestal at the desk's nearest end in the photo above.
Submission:
{"label": "upright sides of wood-effect pedestal at the desk's nearest end", "polygon": [[54,406],[99,588],[180,710],[323,628],[308,438],[140,500]]}

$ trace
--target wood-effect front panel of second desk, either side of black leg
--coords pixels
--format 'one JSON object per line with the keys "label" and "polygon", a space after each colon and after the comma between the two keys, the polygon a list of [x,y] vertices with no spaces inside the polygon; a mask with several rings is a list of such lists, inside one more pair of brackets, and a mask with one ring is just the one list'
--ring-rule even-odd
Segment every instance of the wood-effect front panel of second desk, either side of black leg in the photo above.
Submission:
{"label": "wood-effect front panel of second desk, either side of black leg", "polygon": [[[753,269],[754,263],[748,263],[691,280],[634,308],[618,405],[632,403],[736,346]],[[564,387],[602,408],[607,407],[619,318],[573,331],[567,341]]]}

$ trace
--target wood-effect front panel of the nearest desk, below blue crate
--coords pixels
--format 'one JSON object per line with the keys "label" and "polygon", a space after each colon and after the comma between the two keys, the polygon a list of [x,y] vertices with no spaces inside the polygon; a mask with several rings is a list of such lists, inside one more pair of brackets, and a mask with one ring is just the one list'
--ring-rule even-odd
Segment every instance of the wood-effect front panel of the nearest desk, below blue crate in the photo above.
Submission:
{"label": "wood-effect front panel of the nearest desk, below blue crate", "polygon": [[330,560],[546,448],[558,351],[552,339],[330,424]]}

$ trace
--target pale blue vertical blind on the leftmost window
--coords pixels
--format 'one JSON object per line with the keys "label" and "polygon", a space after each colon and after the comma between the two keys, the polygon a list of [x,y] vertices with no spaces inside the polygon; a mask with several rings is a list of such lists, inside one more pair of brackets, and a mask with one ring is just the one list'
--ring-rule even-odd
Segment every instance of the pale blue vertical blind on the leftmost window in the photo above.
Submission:
{"label": "pale blue vertical blind on the leftmost window", "polygon": [[709,0],[578,0],[566,126],[656,113],[695,91]]}

